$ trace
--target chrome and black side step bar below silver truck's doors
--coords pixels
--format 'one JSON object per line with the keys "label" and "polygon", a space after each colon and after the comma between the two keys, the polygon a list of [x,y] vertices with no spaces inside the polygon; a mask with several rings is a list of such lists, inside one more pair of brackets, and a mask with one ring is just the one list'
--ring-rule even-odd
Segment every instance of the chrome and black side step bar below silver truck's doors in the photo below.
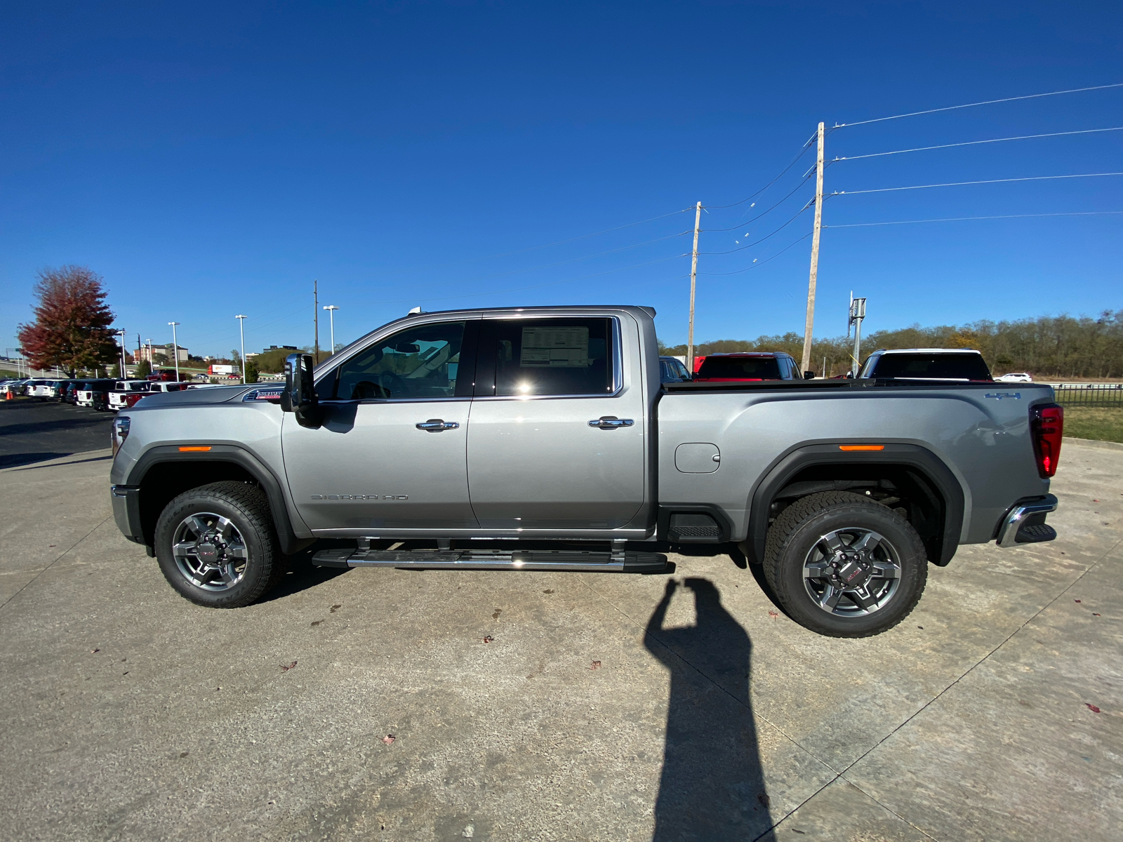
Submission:
{"label": "chrome and black side step bar below silver truck's doors", "polygon": [[320,550],[317,567],[399,567],[427,570],[586,570],[661,573],[667,557],[658,552],[583,552],[579,550]]}

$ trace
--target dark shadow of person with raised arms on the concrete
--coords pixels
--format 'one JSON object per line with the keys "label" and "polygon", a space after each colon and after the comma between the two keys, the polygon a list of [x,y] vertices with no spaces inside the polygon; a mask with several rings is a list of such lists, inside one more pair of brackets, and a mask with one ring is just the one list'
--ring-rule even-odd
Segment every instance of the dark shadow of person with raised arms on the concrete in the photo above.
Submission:
{"label": "dark shadow of person with raised arms on the concrete", "polygon": [[749,695],[752,643],[709,579],[687,578],[696,623],[664,629],[672,579],[643,643],[670,670],[667,736],[652,842],[774,842]]}

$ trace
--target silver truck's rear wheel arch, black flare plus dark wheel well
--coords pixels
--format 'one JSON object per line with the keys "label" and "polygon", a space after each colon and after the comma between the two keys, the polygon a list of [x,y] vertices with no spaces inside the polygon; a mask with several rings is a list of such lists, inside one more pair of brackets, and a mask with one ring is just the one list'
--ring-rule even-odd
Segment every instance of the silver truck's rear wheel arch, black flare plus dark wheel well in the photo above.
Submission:
{"label": "silver truck's rear wheel arch, black flare plus dark wheel well", "polygon": [[[748,536],[742,549],[752,561],[763,561],[773,504],[785,497],[800,498],[825,491],[866,487],[878,481],[914,484],[914,494],[929,528],[917,530],[929,560],[940,567],[951,561],[959,547],[965,515],[962,486],[950,468],[931,450],[919,445],[886,443],[882,450],[843,451],[847,442],[804,445],[782,456],[752,489],[749,497]],[[811,479],[810,477],[815,477]],[[796,487],[805,483],[806,488]],[[801,493],[804,492],[804,493]],[[926,533],[926,534],[925,534]]]}

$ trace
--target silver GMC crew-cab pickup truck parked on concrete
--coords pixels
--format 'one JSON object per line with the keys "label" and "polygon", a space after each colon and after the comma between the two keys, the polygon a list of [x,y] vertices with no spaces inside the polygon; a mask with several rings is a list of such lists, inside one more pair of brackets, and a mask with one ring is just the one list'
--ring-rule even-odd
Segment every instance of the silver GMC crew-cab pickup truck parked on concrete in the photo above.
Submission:
{"label": "silver GMC crew-cab pickup truck parked on concrete", "polygon": [[322,566],[623,573],[736,544],[836,637],[898,623],[961,543],[1056,537],[1049,386],[665,384],[654,317],[416,313],[283,385],[150,395],[113,422],[117,524],[216,607],[317,539]]}

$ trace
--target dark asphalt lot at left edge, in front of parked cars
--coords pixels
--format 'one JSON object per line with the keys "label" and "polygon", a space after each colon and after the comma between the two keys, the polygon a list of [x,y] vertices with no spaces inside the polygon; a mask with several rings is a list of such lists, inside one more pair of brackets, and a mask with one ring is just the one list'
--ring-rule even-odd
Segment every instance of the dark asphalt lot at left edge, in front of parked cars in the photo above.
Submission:
{"label": "dark asphalt lot at left edge, in front of parked cars", "polygon": [[103,448],[112,418],[112,412],[54,401],[0,401],[0,468]]}

